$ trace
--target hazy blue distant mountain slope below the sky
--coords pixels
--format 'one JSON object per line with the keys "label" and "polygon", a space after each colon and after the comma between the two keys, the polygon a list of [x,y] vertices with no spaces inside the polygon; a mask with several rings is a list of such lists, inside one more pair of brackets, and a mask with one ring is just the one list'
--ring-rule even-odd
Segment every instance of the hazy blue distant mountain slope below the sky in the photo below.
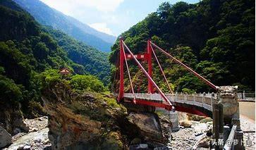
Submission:
{"label": "hazy blue distant mountain slope below the sky", "polygon": [[26,11],[31,13],[42,25],[49,25],[61,30],[85,44],[94,46],[101,51],[110,51],[111,45],[116,39],[114,36],[94,30],[92,27],[80,23],[63,13],[50,8],[39,0],[14,0]]}

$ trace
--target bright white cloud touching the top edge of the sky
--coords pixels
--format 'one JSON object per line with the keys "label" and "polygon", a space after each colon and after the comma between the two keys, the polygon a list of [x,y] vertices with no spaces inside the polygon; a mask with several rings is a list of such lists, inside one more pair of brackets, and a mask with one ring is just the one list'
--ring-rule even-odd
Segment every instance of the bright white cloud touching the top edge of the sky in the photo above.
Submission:
{"label": "bright white cloud touching the top edge of the sky", "polygon": [[115,11],[124,0],[41,0],[45,4],[71,13],[71,9],[78,7],[96,8],[98,11]]}

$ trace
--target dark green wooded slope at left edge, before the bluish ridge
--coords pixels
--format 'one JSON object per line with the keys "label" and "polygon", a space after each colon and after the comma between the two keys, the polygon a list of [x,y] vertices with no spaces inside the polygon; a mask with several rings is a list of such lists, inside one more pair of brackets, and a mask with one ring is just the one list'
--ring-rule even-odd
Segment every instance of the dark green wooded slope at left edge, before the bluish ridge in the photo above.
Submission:
{"label": "dark green wooded slope at left edge, before the bluish ridge", "polygon": [[[7,7],[8,8],[7,8]],[[11,9],[12,8],[12,9]],[[18,10],[18,11],[15,11]],[[58,42],[13,1],[0,1],[0,106],[18,107],[26,117],[42,113],[41,90],[46,84],[63,81],[59,68],[69,68],[83,85],[80,90],[102,92],[104,85],[74,63]],[[83,82],[82,80],[91,80]],[[73,84],[75,87],[76,85]]]}

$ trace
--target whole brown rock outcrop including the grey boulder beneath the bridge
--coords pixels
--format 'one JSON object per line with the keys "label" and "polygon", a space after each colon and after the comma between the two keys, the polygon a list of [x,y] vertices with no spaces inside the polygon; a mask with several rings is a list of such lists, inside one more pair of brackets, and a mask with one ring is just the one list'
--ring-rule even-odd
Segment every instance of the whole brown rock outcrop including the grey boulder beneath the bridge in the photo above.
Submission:
{"label": "whole brown rock outcrop including the grey boulder beneath the bridge", "polygon": [[128,115],[126,108],[106,94],[78,94],[59,83],[45,90],[42,99],[49,113],[52,149],[127,149],[133,139],[140,139],[136,144],[163,139],[155,114]]}

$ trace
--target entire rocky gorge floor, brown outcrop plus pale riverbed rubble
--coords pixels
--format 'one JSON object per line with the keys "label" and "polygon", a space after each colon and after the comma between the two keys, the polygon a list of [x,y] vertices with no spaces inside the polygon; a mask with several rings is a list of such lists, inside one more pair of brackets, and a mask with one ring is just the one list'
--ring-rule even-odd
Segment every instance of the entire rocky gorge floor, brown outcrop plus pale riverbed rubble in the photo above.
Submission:
{"label": "entire rocky gorge floor, brown outcrop plus pale riverbed rubble", "polygon": [[5,132],[5,149],[209,149],[211,118],[178,113],[173,131],[167,111],[128,111],[109,93],[78,92],[63,82],[44,89],[42,100],[48,116],[21,118],[27,130]]}

